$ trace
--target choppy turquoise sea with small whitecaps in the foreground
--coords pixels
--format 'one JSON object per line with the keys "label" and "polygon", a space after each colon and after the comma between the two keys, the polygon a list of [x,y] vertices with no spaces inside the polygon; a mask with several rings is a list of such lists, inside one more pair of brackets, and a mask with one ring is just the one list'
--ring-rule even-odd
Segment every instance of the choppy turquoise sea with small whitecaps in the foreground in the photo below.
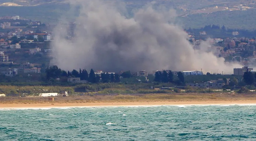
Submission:
{"label": "choppy turquoise sea with small whitecaps in the foreground", "polygon": [[0,141],[256,141],[256,106],[0,110]]}

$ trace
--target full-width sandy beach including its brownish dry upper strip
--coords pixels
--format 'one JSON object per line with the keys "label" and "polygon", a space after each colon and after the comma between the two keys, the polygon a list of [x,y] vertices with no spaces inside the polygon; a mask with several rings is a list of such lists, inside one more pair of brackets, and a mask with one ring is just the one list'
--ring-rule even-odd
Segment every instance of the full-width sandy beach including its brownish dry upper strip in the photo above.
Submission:
{"label": "full-width sandy beach including its brownish dry upper strip", "polygon": [[103,106],[159,106],[159,105],[234,105],[256,104],[256,95],[227,95],[218,93],[180,93],[115,96],[5,97],[0,98],[0,109],[50,107],[103,107]]}

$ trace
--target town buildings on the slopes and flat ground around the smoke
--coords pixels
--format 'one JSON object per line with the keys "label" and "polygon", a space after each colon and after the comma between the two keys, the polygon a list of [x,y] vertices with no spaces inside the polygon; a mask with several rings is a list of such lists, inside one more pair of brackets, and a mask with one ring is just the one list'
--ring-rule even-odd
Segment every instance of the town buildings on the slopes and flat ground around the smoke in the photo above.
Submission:
{"label": "town buildings on the slopes and flat ground around the smoke", "polygon": [[[14,77],[16,75],[28,76],[40,76],[41,73],[45,73],[45,69],[49,67],[51,60],[52,49],[50,47],[51,41],[54,40],[48,27],[40,21],[26,20],[16,15],[12,17],[0,17],[0,74],[7,77]],[[70,26],[74,26],[71,23]],[[70,36],[72,38],[72,28],[70,29]],[[240,63],[242,68],[233,68],[233,72],[223,72],[221,70],[215,72],[207,72],[211,75],[236,75],[243,76],[244,72],[253,72],[253,68],[246,66],[254,66],[256,63],[256,39],[248,37],[239,37],[238,31],[232,32],[232,37],[227,38],[205,38],[207,36],[206,31],[200,31],[199,33],[186,31],[188,34],[187,40],[193,45],[193,48],[210,48],[214,51],[217,57],[225,58],[226,62]],[[199,36],[197,36],[199,35]],[[208,46],[201,47],[201,43],[206,42]],[[159,68],[161,70],[161,68]],[[71,71],[71,70],[70,70]],[[198,68],[198,70],[155,70],[154,72],[148,72],[145,70],[138,72],[130,72],[133,77],[138,77],[137,82],[149,82],[148,77],[155,77],[155,72],[163,71],[172,72],[177,76],[178,72],[182,72],[183,76],[194,75],[206,75],[206,72]],[[71,72],[68,72],[71,74]],[[88,83],[88,80],[82,79],[79,76],[68,75],[64,80],[68,83]],[[81,73],[81,72],[80,72]],[[123,71],[120,72],[106,72],[95,71],[96,76],[102,79],[102,74],[119,75],[122,79]],[[66,75],[65,75],[66,76]],[[87,75],[88,77],[88,75]],[[229,79],[228,79],[229,80]],[[154,81],[151,79],[151,81]],[[222,79],[210,80],[203,83],[187,83],[187,86],[191,87],[215,87],[221,88],[228,84],[229,81],[224,82]]]}

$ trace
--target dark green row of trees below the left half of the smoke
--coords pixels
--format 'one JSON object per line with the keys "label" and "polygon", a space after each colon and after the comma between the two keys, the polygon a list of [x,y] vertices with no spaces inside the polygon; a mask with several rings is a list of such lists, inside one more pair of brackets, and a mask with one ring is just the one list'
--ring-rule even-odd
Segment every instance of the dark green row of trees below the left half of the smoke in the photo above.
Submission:
{"label": "dark green row of trees below the left half of the smoke", "polygon": [[120,82],[120,76],[118,74],[109,74],[109,73],[101,73],[101,77],[98,74],[95,74],[95,72],[93,71],[93,69],[91,69],[91,71],[88,72],[86,71],[86,69],[79,69],[79,72],[76,71],[75,69],[73,69],[73,71],[64,71],[61,70],[60,68],[58,68],[57,66],[51,66],[48,67],[46,69],[46,77],[47,80],[51,80],[51,79],[57,79],[57,78],[61,78],[61,77],[79,77],[80,80],[86,80],[90,83],[98,83],[98,82],[102,82],[102,83],[109,83],[109,82]]}

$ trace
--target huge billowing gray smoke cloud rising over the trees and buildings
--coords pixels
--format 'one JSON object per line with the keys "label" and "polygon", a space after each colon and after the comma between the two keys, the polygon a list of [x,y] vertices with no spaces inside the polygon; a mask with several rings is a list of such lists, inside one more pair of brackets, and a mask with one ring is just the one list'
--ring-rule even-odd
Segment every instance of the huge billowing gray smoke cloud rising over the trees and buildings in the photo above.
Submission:
{"label": "huge billowing gray smoke cloud rising over the trees and buildings", "polygon": [[[132,18],[120,7],[101,0],[73,1],[80,5],[74,37],[60,24],[54,31],[53,60],[62,69],[93,68],[118,71],[200,71],[232,73],[239,64],[225,64],[224,58],[202,43],[194,50],[187,34],[174,24],[174,10],[155,10],[152,4],[138,9]],[[122,6],[121,6],[122,7]],[[121,11],[121,12],[120,12]]]}

